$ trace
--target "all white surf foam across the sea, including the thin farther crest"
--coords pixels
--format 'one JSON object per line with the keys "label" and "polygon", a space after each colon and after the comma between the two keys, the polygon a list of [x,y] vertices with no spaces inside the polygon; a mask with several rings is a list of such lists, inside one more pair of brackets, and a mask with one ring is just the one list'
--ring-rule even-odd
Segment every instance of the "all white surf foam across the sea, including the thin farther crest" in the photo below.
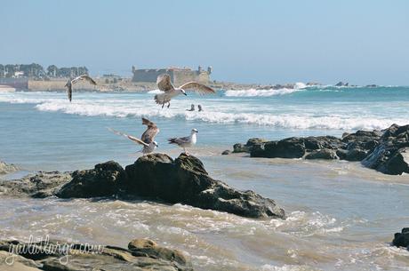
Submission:
{"label": "all white surf foam across the sea, including the thin farther crest", "polygon": [[[283,92],[284,90],[271,90]],[[302,90],[285,90],[285,92],[299,92]],[[267,91],[231,91],[229,95],[244,92],[258,93]],[[240,94],[238,94],[240,95]],[[169,109],[157,107],[152,95],[113,95],[113,94],[84,94],[78,93],[77,99],[69,103],[65,93],[50,92],[8,92],[0,94],[0,102],[30,103],[40,111],[63,112],[80,116],[112,116],[112,117],[163,117],[188,121],[198,121],[215,124],[257,124],[269,125],[288,129],[325,129],[346,130],[383,129],[391,124],[405,124],[405,116],[397,118],[366,114],[362,117],[361,109],[345,111],[343,108],[294,108],[288,105],[278,105],[275,108],[261,105],[254,109],[253,105],[231,102],[229,98],[205,100],[205,112],[187,112],[190,100],[178,100]],[[261,112],[261,113],[259,113]]]}

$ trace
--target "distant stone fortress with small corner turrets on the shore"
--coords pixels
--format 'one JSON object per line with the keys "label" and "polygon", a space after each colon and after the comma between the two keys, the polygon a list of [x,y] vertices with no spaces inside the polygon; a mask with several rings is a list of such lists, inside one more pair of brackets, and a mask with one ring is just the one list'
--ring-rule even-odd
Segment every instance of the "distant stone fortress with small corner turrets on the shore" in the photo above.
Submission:
{"label": "distant stone fortress with small corner turrets on the shore", "polygon": [[156,83],[156,77],[161,74],[168,74],[171,76],[173,84],[184,84],[189,81],[196,81],[202,84],[208,84],[210,75],[212,74],[212,67],[203,70],[198,67],[197,70],[191,68],[148,68],[137,69],[132,66],[132,82],[153,82]]}

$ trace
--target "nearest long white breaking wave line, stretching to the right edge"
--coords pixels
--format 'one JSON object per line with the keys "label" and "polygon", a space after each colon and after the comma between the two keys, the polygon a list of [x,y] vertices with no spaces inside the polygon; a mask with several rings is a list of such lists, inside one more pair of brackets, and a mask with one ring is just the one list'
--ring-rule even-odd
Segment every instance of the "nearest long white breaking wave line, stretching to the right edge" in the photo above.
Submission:
{"label": "nearest long white breaking wave line, stretching to the right edge", "polygon": [[[329,129],[329,130],[357,130],[383,129],[390,124],[405,124],[405,119],[369,118],[352,116],[308,116],[308,115],[275,115],[254,113],[226,113],[206,111],[183,112],[181,110],[162,110],[160,108],[133,108],[130,105],[68,104],[63,102],[44,102],[36,105],[40,111],[64,112],[81,116],[114,116],[114,117],[164,117],[177,118],[188,121],[200,121],[215,124],[258,124],[277,128],[289,129]],[[181,111],[181,112],[180,112]]]}

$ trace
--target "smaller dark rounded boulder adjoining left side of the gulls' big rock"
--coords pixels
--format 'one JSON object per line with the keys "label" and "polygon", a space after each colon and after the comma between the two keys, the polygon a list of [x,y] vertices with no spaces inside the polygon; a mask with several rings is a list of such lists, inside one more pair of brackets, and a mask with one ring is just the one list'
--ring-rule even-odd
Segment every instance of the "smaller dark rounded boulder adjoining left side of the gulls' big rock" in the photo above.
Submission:
{"label": "smaller dark rounded boulder adjoining left side of the gulls' big rock", "polygon": [[61,187],[58,197],[95,197],[116,194],[126,180],[119,163],[109,161],[95,165],[93,170],[74,171],[72,180]]}

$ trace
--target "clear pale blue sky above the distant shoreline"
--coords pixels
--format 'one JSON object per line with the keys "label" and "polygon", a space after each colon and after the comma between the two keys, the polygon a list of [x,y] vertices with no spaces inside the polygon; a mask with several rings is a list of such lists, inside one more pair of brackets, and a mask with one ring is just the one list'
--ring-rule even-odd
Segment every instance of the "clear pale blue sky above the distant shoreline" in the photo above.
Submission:
{"label": "clear pale blue sky above the distant shoreline", "polygon": [[409,85],[407,0],[0,0],[0,63],[213,67],[237,83]]}

